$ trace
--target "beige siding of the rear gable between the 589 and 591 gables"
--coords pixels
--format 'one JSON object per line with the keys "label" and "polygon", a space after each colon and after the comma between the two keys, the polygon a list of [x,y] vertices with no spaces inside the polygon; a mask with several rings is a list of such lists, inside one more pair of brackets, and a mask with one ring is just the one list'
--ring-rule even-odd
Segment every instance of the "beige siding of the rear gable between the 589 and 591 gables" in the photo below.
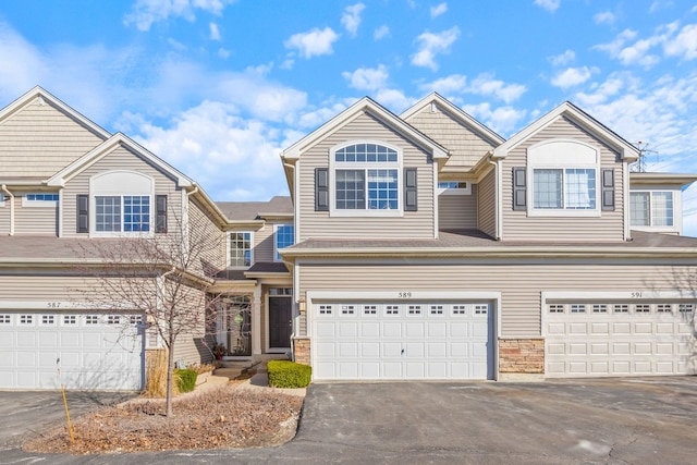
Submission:
{"label": "beige siding of the rear gable between the 589 and 591 gables", "polygon": [[450,158],[441,170],[442,173],[451,171],[451,168],[472,168],[487,151],[494,148],[491,142],[457,121],[450,112],[443,111],[438,103],[435,113],[431,113],[431,106],[428,105],[407,122],[448,148]]}

